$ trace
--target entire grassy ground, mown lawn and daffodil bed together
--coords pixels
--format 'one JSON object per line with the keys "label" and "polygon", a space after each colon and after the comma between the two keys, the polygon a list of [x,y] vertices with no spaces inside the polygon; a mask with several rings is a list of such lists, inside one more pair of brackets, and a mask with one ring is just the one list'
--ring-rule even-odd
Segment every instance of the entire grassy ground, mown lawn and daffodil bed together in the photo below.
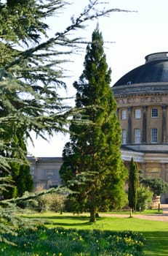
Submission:
{"label": "entire grassy ground, mown lawn and daffodil bed together", "polygon": [[89,214],[54,212],[23,217],[43,224],[19,229],[17,237],[7,233],[8,241],[17,246],[0,243],[0,255],[143,256],[143,249],[147,256],[167,256],[168,222],[100,214],[90,223]]}

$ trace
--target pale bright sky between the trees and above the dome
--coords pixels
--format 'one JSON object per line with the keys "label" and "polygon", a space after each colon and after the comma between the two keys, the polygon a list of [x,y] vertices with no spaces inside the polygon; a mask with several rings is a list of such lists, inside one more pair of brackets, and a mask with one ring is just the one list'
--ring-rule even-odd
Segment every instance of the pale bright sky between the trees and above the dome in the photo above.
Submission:
{"label": "pale bright sky between the trees and above the dome", "polygon": [[[72,2],[72,1],[68,1]],[[105,1],[107,2],[107,1]],[[49,33],[63,31],[70,25],[71,17],[78,16],[89,0],[73,0],[73,4],[63,10],[60,15],[49,19]],[[92,32],[99,23],[103,34],[104,51],[108,67],[112,70],[111,86],[130,70],[145,64],[145,56],[151,53],[168,51],[168,1],[167,0],[108,0],[104,5],[109,9],[129,10],[132,12],[111,12],[109,17],[89,21],[84,30],[77,35],[87,40],[92,39]],[[111,42],[111,43],[110,43]],[[65,80],[68,90],[67,97],[75,97],[73,82],[79,79],[83,71],[85,49],[79,56],[71,56],[69,74]],[[62,92],[60,92],[62,93]],[[73,105],[73,102],[70,102]],[[48,142],[33,136],[34,146],[28,142],[28,153],[34,157],[61,157],[63,147],[69,136],[55,134]]]}

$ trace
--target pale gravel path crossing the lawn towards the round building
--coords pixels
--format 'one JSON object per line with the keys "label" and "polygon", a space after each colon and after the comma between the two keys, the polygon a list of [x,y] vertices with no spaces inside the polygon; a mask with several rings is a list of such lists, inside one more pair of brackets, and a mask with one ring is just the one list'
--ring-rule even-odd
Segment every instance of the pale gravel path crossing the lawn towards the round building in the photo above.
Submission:
{"label": "pale gravel path crossing the lawn towards the round building", "polygon": [[[148,215],[141,215],[141,214],[132,214],[132,217],[138,218],[138,219],[151,219],[151,220],[159,220],[161,222],[168,222],[168,204],[161,204],[161,209],[163,209],[163,214],[148,214]],[[106,214],[103,214],[105,216]],[[129,214],[107,214],[106,216],[111,217],[129,217]]]}

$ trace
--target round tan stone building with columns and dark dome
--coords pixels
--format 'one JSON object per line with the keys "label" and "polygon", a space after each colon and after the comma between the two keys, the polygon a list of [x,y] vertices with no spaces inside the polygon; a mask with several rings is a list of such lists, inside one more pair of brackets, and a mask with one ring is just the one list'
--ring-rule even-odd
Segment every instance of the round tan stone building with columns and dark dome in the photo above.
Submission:
{"label": "round tan stone building with columns and dark dome", "polygon": [[[121,157],[133,157],[145,176],[168,182],[168,52],[145,57],[112,87],[121,124]],[[161,201],[167,202],[168,193]]]}

